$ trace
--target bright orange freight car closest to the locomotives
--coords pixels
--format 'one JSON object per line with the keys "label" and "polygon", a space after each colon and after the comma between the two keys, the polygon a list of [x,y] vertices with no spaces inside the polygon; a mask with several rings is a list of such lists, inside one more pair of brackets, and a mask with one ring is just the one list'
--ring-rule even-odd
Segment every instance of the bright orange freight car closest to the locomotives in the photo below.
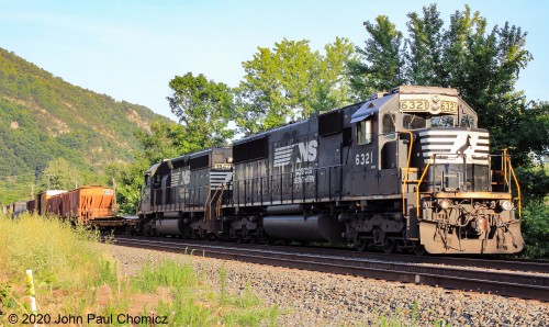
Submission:
{"label": "bright orange freight car closest to the locomotives", "polygon": [[80,224],[115,216],[114,190],[102,187],[82,187],[57,195],[61,203],[59,216],[71,218]]}

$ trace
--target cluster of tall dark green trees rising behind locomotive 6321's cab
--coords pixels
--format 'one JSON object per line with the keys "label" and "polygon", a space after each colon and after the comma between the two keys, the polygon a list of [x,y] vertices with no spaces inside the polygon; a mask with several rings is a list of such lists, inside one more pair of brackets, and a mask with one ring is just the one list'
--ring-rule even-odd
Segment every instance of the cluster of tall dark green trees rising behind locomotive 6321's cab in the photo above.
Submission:
{"label": "cluster of tall dark green trees rising behind locomotive 6321's cab", "polygon": [[[479,126],[490,129],[492,148],[512,147],[527,109],[524,92],[515,89],[520,70],[533,59],[525,49],[527,34],[509,23],[486,32],[486,20],[468,5],[450,16],[446,30],[436,4],[407,16],[404,47],[402,33],[386,16],[365,22],[366,48],[349,65],[355,92],[366,99],[402,83],[457,88],[478,112]],[[518,164],[528,157],[524,148],[512,149],[512,155]]]}

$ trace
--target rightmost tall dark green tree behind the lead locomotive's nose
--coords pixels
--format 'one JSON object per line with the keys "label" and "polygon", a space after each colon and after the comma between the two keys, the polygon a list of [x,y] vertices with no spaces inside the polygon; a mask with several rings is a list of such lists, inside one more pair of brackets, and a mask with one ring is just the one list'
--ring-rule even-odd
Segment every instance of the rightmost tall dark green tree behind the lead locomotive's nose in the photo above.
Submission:
{"label": "rightmost tall dark green tree behind the lead locomotive's nose", "polygon": [[[445,37],[449,84],[478,112],[479,126],[490,129],[494,150],[513,147],[526,110],[524,92],[515,84],[533,59],[524,48],[526,33],[507,22],[486,33],[486,20],[479,12],[471,15],[466,7],[452,15]],[[527,157],[520,148],[512,149],[512,155],[520,158],[516,164]]]}

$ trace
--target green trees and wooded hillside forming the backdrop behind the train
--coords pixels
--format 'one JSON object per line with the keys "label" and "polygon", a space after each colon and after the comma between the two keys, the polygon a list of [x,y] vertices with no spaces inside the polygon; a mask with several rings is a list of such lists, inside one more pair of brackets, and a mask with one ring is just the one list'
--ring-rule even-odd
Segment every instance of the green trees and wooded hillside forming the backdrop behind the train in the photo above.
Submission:
{"label": "green trees and wooded hillside forming the backdrop behind the train", "polygon": [[[365,47],[346,38],[327,44],[324,54],[307,40],[258,47],[243,61],[245,75],[234,89],[200,74],[176,76],[168,102],[181,124],[70,86],[0,50],[0,202],[25,199],[36,184],[65,189],[114,180],[121,212],[133,213],[143,172],[161,159],[410,83],[460,91],[490,131],[491,149],[509,149],[523,184],[524,228],[538,230],[535,222],[547,219],[549,104],[527,101],[516,89],[534,59],[527,33],[508,22],[489,26],[468,5],[446,22],[436,4],[407,18],[407,34],[385,15],[365,22]],[[547,257],[539,250],[549,248],[547,240],[535,245],[529,235],[525,253]]]}

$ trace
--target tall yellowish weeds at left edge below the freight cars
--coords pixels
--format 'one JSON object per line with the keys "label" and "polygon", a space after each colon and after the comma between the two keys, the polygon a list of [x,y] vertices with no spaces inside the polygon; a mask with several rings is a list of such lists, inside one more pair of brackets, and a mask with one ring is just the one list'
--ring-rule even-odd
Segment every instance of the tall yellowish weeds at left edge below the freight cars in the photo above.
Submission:
{"label": "tall yellowish weeds at left edge below the freight cars", "polygon": [[83,226],[30,214],[15,219],[1,215],[0,230],[0,281],[22,280],[32,269],[38,283],[71,287],[96,280],[107,264],[96,243],[99,233]]}

